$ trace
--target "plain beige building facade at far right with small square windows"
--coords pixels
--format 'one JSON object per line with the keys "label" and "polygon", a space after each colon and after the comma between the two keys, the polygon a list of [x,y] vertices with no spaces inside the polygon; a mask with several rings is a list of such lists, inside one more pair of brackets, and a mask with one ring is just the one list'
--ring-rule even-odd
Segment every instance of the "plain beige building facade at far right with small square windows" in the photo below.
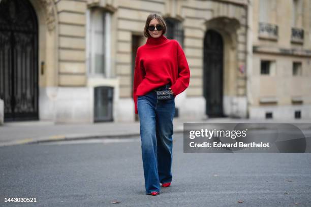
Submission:
{"label": "plain beige building facade at far right with small square windows", "polygon": [[247,73],[252,118],[311,118],[311,2],[253,1]]}

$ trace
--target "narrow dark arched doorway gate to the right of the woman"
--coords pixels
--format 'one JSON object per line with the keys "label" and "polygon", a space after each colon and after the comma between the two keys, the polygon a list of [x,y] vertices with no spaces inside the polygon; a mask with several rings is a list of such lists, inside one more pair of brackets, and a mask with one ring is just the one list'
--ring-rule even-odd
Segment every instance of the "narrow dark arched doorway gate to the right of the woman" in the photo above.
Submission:
{"label": "narrow dark arched doorway gate to the right of the woman", "polygon": [[223,39],[215,30],[208,30],[204,39],[203,91],[206,114],[223,116]]}

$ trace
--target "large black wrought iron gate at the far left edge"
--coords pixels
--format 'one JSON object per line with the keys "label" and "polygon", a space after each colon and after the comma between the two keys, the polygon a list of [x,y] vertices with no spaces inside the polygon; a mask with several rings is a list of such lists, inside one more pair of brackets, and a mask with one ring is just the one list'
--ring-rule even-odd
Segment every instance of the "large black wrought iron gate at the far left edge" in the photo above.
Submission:
{"label": "large black wrought iron gate at the far left edge", "polygon": [[0,3],[0,98],[5,121],[38,119],[38,23],[27,0]]}

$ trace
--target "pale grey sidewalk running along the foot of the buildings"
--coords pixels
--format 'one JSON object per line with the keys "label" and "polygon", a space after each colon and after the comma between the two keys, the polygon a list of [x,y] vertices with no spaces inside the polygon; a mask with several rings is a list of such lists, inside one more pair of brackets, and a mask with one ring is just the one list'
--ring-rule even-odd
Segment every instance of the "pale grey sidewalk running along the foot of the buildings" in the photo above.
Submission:
{"label": "pale grey sidewalk running along the foot of the buildings", "polygon": [[[233,118],[211,118],[188,121],[174,119],[174,133],[183,131],[184,122],[201,123],[260,123],[260,122],[303,122],[311,120],[251,120]],[[126,138],[140,135],[139,122],[101,122],[89,124],[54,124],[47,121],[9,122],[0,126],[0,147],[26,143],[68,141],[81,139]]]}

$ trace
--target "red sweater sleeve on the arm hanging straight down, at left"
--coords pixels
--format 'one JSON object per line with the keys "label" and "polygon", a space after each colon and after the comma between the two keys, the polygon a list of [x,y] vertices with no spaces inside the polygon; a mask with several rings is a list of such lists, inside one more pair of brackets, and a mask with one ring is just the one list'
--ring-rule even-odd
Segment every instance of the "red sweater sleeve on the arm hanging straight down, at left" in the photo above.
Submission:
{"label": "red sweater sleeve on the arm hanging straight down, at left", "polygon": [[142,62],[140,61],[139,49],[137,49],[136,58],[135,58],[135,69],[134,69],[134,83],[133,83],[133,98],[134,98],[134,104],[135,104],[135,114],[138,114],[137,95],[136,95],[137,87],[142,82],[145,75],[146,74],[145,74]]}

